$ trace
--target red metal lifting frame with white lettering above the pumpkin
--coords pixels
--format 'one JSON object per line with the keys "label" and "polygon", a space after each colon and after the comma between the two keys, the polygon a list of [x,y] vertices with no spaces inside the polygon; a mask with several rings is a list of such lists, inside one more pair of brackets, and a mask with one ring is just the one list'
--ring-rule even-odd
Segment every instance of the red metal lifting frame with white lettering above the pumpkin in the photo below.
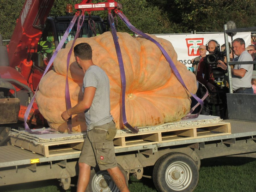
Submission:
{"label": "red metal lifting frame with white lettering above the pumpkin", "polygon": [[75,9],[83,10],[85,12],[92,11],[110,11],[115,9],[122,9],[122,5],[115,0],[107,0],[104,3],[91,3],[91,0],[83,0],[80,4],[75,4]]}

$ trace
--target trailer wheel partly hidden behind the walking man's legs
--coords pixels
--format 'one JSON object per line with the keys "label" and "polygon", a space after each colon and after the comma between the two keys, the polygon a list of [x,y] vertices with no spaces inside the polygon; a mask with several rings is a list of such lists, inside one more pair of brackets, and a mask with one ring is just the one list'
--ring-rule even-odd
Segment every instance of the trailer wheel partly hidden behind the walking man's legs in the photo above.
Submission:
{"label": "trailer wheel partly hidden behind the walking man's legs", "polygon": [[[128,185],[126,172],[121,165],[117,164],[117,166],[122,171],[126,184]],[[119,190],[114,181],[111,179],[108,171],[100,171],[99,168],[94,168],[91,170],[90,182],[86,192],[119,192]]]}

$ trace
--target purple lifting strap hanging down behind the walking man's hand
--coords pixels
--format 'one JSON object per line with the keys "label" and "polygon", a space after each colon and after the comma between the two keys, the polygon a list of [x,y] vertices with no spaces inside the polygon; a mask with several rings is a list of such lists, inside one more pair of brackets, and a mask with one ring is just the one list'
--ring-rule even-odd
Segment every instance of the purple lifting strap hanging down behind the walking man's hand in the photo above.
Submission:
{"label": "purple lifting strap hanging down behind the walking man's hand", "polygon": [[[82,21],[81,21],[81,18],[82,18]],[[77,22],[77,31],[76,31],[72,46],[67,54],[67,73],[68,73],[68,68],[69,68],[70,57],[73,52],[73,46],[74,46],[74,43],[75,43],[77,37],[79,36],[79,33],[81,30],[81,27],[83,26],[84,20],[85,20],[85,14],[84,14],[84,12],[82,12],[82,14],[80,15],[78,22]],[[67,109],[72,108],[67,75],[66,75],[66,86],[65,86],[65,99],[66,99],[66,108]],[[72,115],[70,116],[70,118],[67,121],[67,127],[68,127],[68,133],[71,133],[72,132]]]}

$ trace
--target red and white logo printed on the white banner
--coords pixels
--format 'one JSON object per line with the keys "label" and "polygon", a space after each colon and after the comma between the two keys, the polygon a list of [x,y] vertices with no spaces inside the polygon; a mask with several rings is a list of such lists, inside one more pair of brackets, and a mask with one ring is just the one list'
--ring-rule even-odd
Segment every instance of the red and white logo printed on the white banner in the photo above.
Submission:
{"label": "red and white logo printed on the white banner", "polygon": [[203,40],[204,40],[204,38],[188,38],[188,39],[186,39],[189,56],[200,55],[198,48],[200,45],[203,45]]}

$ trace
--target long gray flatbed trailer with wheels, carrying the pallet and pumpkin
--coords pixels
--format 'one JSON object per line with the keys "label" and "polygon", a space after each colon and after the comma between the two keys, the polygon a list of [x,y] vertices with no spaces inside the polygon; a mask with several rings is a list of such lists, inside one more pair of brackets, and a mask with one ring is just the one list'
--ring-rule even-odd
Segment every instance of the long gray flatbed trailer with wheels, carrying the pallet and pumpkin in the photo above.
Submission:
{"label": "long gray flatbed trailer with wheels, carrying the pallet and pumpkin", "polygon": [[[223,121],[230,123],[230,134],[116,146],[117,162],[127,179],[130,174],[141,179],[143,168],[154,166],[152,177],[158,191],[192,191],[198,182],[201,159],[256,157],[256,122]],[[0,191],[1,186],[49,179],[59,179],[67,190],[71,178],[78,175],[79,153],[46,157],[18,146],[3,146],[0,154]],[[106,171],[95,168],[87,191],[100,190],[116,191],[116,186]]]}

